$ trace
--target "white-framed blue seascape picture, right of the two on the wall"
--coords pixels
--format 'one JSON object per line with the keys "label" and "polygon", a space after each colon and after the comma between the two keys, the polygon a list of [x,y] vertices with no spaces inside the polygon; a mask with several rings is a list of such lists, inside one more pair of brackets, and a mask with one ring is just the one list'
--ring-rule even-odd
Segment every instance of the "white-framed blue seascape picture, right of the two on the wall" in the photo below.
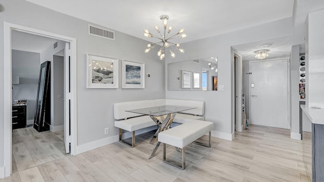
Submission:
{"label": "white-framed blue seascape picture, right of the two on the wall", "polygon": [[122,88],[145,88],[145,67],[144,63],[137,63],[123,60]]}

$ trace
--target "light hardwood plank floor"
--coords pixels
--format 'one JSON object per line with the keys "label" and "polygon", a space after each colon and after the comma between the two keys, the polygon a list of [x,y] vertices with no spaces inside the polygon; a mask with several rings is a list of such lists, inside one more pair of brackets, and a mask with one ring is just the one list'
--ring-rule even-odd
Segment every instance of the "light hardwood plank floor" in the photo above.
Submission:
{"label": "light hardwood plank floor", "polygon": [[[20,139],[14,139],[18,134]],[[185,170],[161,161],[162,146],[147,159],[152,135],[136,136],[135,148],[116,142],[69,156],[60,147],[62,133],[18,130],[13,133],[13,174],[0,181],[311,181],[309,133],[299,141],[290,139],[287,129],[251,125],[236,132],[233,141],[212,138],[211,148],[190,144]],[[167,158],[180,162],[181,153],[168,146]]]}

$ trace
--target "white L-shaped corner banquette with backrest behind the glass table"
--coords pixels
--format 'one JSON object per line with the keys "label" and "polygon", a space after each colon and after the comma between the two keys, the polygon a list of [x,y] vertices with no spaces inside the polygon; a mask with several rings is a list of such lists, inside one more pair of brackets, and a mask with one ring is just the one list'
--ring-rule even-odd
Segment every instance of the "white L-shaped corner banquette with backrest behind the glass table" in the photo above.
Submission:
{"label": "white L-shaped corner banquette with backrest behind the glass table", "polygon": [[[195,100],[181,100],[181,99],[156,99],[133,102],[114,103],[114,118],[115,127],[119,128],[119,141],[131,147],[135,147],[135,131],[138,129],[154,126],[157,124],[150,118],[150,116],[127,112],[127,110],[141,109],[154,106],[175,105],[175,106],[191,106],[195,109],[177,113],[173,122],[185,123],[189,120],[205,120],[205,102]],[[132,144],[122,140],[121,135],[123,130],[132,132]]]}

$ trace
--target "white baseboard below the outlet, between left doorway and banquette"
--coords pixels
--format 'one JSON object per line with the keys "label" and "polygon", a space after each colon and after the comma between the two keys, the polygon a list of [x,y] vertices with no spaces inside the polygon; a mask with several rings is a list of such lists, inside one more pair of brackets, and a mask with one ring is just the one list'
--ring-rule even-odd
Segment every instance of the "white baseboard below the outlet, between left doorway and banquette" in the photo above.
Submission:
{"label": "white baseboard below the outlet, between left doorway and banquette", "polygon": [[119,136],[109,136],[108,138],[100,139],[97,141],[89,142],[87,144],[77,146],[77,154],[81,154],[108,144],[112,144],[114,142],[119,141]]}

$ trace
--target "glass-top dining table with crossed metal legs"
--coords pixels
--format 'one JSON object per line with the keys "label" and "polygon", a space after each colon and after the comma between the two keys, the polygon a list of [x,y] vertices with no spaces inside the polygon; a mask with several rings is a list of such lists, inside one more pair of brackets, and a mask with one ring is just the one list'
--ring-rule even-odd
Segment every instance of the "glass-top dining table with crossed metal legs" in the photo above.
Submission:
{"label": "glass-top dining table with crossed metal legs", "polygon": [[156,130],[155,134],[152,136],[152,139],[150,141],[150,144],[154,144],[156,142],[157,143],[154,149],[152,150],[149,159],[154,157],[155,152],[158,146],[160,145],[160,142],[158,142],[157,139],[158,133],[170,128],[172,121],[178,112],[187,111],[195,108],[196,107],[190,107],[190,106],[165,105],[165,106],[155,106],[155,107],[127,110],[127,112],[149,115],[150,118],[158,125],[158,129]]}

